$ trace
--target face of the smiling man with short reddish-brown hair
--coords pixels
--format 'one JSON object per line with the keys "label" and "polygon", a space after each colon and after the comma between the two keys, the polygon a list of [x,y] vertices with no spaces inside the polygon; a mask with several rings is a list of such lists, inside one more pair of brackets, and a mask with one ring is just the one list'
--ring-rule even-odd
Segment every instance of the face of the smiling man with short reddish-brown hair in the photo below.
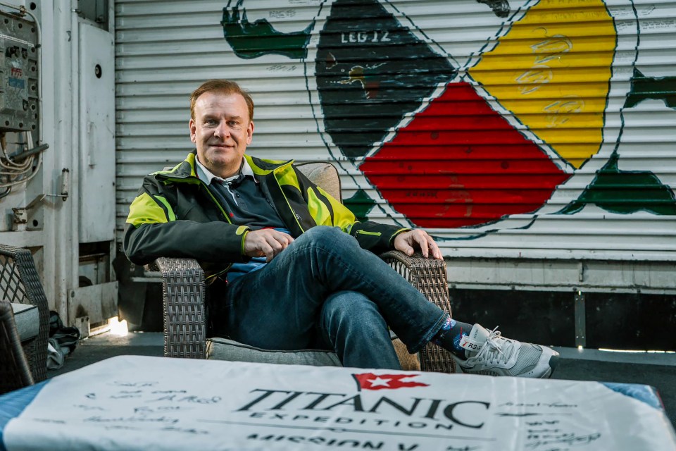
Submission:
{"label": "face of the smiling man with short reddish-brown hair", "polygon": [[194,116],[189,124],[190,140],[197,147],[199,162],[223,178],[236,174],[253,136],[244,97],[205,92],[195,102]]}

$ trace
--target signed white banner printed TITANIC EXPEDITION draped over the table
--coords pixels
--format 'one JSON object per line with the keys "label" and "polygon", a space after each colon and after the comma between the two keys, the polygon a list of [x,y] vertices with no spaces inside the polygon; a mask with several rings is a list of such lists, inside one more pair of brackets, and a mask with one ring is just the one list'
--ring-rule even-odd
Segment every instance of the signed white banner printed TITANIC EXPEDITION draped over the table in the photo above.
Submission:
{"label": "signed white banner printed TITANIC EXPEDITION draped over the table", "polygon": [[49,381],[2,440],[8,451],[676,450],[646,385],[132,356]]}

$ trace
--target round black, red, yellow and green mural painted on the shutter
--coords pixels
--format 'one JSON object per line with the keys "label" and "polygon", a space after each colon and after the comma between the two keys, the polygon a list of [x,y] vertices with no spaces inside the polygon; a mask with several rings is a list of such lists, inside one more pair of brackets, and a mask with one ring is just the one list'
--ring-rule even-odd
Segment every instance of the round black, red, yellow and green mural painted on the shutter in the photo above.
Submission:
{"label": "round black, red, yellow and green mural painted on the shutter", "polygon": [[[451,239],[543,216],[676,215],[676,177],[637,163],[665,140],[676,150],[676,131],[651,149],[627,128],[656,111],[676,117],[676,73],[639,52],[654,6],[286,0],[253,17],[255,3],[227,2],[225,41],[238,58],[302,65],[327,159],[357,187],[345,202],[358,217],[378,212]],[[286,30],[301,9],[311,19]],[[477,12],[480,23],[467,23]]]}

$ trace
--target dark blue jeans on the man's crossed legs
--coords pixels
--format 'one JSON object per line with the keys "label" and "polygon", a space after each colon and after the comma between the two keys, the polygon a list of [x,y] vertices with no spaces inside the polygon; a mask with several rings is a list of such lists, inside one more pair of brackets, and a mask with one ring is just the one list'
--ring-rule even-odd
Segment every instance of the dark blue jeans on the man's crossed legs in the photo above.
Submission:
{"label": "dark blue jeans on the man's crossed legs", "polygon": [[[418,352],[446,314],[338,228],[318,226],[214,299],[227,335],[263,349],[334,350],[344,366],[399,369],[387,326]],[[224,317],[223,317],[224,316]]]}

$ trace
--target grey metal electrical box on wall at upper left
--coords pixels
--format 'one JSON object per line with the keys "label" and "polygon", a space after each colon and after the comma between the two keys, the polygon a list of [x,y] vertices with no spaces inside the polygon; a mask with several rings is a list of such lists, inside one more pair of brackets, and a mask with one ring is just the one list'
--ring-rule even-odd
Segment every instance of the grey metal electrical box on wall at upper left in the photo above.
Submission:
{"label": "grey metal electrical box on wall at upper left", "polygon": [[0,131],[37,131],[36,44],[35,23],[0,11]]}

